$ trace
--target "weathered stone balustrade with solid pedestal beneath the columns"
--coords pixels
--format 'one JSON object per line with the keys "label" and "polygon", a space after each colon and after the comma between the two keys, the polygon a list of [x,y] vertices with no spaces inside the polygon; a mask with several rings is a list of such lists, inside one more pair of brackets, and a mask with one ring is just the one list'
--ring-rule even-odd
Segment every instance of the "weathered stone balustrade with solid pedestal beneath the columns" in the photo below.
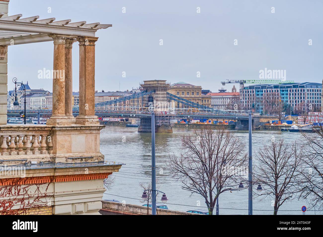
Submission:
{"label": "weathered stone balustrade with solid pedestal beneath the columns", "polygon": [[[99,162],[103,126],[2,125],[0,165],[39,162]],[[22,159],[25,161],[22,162]],[[5,161],[5,163],[4,163]],[[19,162],[18,162],[19,163]]]}

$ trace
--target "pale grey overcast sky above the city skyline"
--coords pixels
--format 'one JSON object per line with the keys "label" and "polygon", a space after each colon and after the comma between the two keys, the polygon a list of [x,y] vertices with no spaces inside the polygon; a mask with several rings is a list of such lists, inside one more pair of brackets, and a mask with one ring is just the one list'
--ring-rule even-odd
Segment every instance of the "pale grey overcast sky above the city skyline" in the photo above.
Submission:
{"label": "pale grey overcast sky above the city skyline", "polygon": [[[48,7],[51,13],[48,13]],[[187,82],[218,92],[222,81],[258,80],[259,71],[286,70],[286,80],[323,79],[323,1],[10,0],[9,15],[112,24],[96,36],[95,89],[124,91],[144,80]],[[311,43],[309,43],[311,42]],[[310,45],[309,45],[310,44]],[[53,43],[8,47],[13,77],[52,91],[38,70],[53,68]],[[73,91],[78,91],[78,43]],[[198,73],[199,72],[199,73]],[[124,77],[125,76],[125,77]],[[198,77],[199,76],[199,77]],[[239,84],[235,84],[239,88]]]}

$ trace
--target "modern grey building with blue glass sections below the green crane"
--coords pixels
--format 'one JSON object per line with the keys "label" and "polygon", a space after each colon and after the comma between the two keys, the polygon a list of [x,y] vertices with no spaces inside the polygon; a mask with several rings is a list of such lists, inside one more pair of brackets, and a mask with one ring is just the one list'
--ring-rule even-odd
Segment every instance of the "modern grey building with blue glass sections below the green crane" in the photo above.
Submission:
{"label": "modern grey building with blue glass sections below the green crane", "polygon": [[242,104],[245,109],[255,108],[263,112],[263,104],[275,97],[291,106],[291,110],[317,110],[322,106],[322,84],[320,83],[286,83],[286,84],[257,84],[245,86]]}

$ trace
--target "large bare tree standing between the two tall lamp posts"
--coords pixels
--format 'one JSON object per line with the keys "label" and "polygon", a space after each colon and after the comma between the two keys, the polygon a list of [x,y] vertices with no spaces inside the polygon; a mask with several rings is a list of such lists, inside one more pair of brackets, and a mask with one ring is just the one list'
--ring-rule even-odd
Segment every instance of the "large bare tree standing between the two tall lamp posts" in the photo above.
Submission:
{"label": "large bare tree standing between the two tall lamp posts", "polygon": [[245,145],[222,127],[201,129],[182,137],[180,157],[170,156],[173,177],[182,181],[182,189],[200,194],[213,214],[221,193],[239,190],[246,175]]}

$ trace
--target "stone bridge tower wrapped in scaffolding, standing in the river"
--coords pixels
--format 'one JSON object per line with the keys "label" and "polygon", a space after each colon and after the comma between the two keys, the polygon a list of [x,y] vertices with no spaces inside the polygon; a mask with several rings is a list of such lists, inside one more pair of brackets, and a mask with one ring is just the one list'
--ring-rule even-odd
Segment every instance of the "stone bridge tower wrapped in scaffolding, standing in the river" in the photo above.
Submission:
{"label": "stone bridge tower wrapped in scaffolding, standing in the river", "polygon": [[[144,95],[142,104],[148,107],[149,110],[153,108],[155,112],[155,132],[156,133],[172,133],[171,121],[169,113],[169,103],[167,99],[167,89],[169,85],[166,80],[150,80],[144,81],[140,84],[144,90],[153,91],[151,94]],[[140,133],[151,133],[151,119],[141,118],[140,126],[138,127]]]}

